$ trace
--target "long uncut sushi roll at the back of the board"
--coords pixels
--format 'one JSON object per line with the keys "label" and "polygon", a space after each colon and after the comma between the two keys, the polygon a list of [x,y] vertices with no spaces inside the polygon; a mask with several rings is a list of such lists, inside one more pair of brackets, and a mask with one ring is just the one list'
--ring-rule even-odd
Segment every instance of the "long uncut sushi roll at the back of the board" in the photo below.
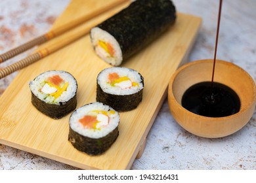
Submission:
{"label": "long uncut sushi roll at the back of the board", "polygon": [[175,20],[176,10],[171,0],[137,0],[93,27],[91,42],[101,59],[119,66],[159,37]]}

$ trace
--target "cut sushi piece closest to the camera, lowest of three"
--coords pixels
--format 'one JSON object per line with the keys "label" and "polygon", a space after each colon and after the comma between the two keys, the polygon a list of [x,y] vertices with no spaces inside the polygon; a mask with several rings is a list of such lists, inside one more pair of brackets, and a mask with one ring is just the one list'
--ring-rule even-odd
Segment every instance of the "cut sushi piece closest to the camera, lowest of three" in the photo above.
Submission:
{"label": "cut sushi piece closest to the camera, lowest of three", "polygon": [[79,151],[100,155],[116,141],[119,114],[102,103],[90,103],[77,108],[70,116],[68,141]]}

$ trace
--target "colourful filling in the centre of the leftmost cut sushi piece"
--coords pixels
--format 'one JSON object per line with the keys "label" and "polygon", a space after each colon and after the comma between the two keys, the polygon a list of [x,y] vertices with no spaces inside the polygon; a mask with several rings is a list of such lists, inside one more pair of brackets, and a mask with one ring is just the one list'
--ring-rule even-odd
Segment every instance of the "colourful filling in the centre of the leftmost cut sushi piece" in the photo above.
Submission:
{"label": "colourful filling in the centre of the leftmost cut sushi piece", "polygon": [[59,75],[54,75],[45,81],[41,92],[52,95],[55,99],[60,97],[60,95],[66,91],[68,88],[68,82],[64,80]]}

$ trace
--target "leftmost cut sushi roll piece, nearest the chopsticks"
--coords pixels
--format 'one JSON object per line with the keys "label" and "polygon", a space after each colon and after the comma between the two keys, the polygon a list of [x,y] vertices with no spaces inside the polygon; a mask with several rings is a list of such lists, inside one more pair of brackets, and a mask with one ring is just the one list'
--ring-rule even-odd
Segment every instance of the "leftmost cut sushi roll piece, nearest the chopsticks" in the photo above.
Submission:
{"label": "leftmost cut sushi roll piece, nearest the chopsticks", "polygon": [[47,71],[30,82],[32,104],[47,116],[59,119],[77,105],[77,81],[65,71]]}

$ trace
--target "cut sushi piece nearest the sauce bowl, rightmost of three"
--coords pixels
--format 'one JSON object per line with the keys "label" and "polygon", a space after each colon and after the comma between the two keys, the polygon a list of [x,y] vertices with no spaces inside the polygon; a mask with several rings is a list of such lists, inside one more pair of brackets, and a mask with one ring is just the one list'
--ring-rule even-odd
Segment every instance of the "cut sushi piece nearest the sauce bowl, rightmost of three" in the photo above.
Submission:
{"label": "cut sushi piece nearest the sauce bowl, rightmost of three", "polygon": [[144,78],[125,67],[110,67],[98,74],[96,101],[110,105],[118,112],[137,108],[142,101]]}

